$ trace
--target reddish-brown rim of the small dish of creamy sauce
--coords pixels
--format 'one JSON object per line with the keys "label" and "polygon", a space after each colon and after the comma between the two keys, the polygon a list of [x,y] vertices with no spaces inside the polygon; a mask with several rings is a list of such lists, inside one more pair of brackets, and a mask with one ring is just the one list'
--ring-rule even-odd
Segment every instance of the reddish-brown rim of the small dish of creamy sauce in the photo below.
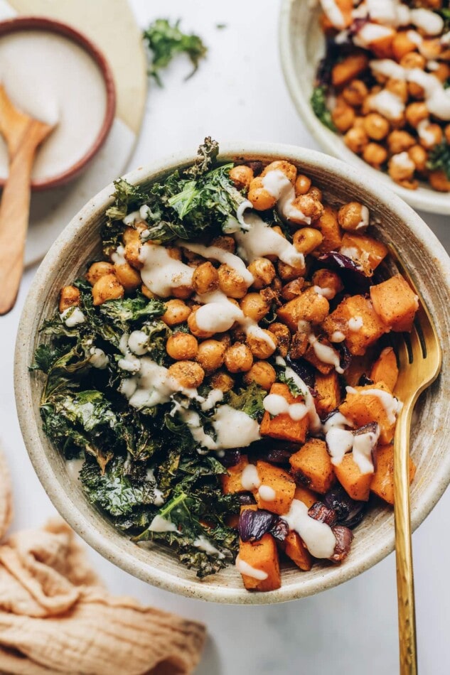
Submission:
{"label": "reddish-brown rim of the small dish of creamy sauce", "polygon": [[[109,67],[107,59],[97,46],[92,43],[89,38],[77,31],[72,26],[60,21],[54,21],[51,18],[44,16],[18,16],[16,18],[0,21],[0,38],[8,33],[18,33],[19,31],[43,31],[50,33],[57,33],[60,36],[68,38],[69,40],[80,45],[95,61],[102,78],[105,82],[106,91],[106,106],[105,117],[103,118],[102,126],[97,133],[95,140],[90,146],[89,150],[77,161],[62,173],[45,178],[41,180],[32,180],[32,190],[47,190],[48,188],[56,188],[58,185],[64,185],[69,180],[75,178],[85,166],[94,158],[102,145],[105,143],[109,130],[111,129],[114,115],[116,112],[116,88],[114,85],[114,76]],[[0,178],[0,185],[4,185],[4,180]]]}

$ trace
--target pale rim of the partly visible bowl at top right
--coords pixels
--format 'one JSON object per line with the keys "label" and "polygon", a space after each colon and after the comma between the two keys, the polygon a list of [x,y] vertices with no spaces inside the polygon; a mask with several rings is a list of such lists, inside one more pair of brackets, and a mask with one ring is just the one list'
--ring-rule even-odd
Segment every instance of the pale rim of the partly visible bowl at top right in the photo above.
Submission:
{"label": "pale rim of the partly visible bowl at top right", "polygon": [[[291,50],[291,25],[294,6],[303,3],[306,5],[305,11],[310,11],[308,0],[282,0],[279,11],[279,26],[278,26],[278,42],[279,55],[282,64],[282,70],[286,86],[289,90],[291,100],[296,107],[299,116],[306,124],[309,132],[314,136],[314,139],[321,146],[323,151],[330,153],[334,157],[341,158],[342,153],[347,153],[348,148],[343,143],[342,137],[335,134],[330,129],[327,129],[311,108],[309,98],[304,94],[304,88],[301,87],[297,68],[294,63],[294,58]],[[370,173],[371,180],[377,180],[385,184],[385,188],[392,190],[410,206],[415,209],[427,211],[429,213],[438,213],[440,215],[450,214],[450,194],[439,193],[437,190],[431,188],[423,188],[419,186],[417,190],[407,190],[397,185],[386,173],[377,171],[368,163],[363,161],[358,155],[348,151],[348,161],[358,168],[358,171],[366,171]]]}

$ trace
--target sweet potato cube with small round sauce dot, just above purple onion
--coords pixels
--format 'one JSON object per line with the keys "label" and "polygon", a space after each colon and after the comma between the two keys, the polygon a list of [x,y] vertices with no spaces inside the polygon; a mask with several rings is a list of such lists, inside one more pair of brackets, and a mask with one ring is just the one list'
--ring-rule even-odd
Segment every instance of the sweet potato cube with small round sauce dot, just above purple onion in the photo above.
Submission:
{"label": "sweet potato cube with small round sauce dot, just above purple onion", "polygon": [[279,468],[262,460],[257,461],[261,485],[255,495],[259,509],[266,509],[280,516],[289,511],[294,499],[294,479]]}

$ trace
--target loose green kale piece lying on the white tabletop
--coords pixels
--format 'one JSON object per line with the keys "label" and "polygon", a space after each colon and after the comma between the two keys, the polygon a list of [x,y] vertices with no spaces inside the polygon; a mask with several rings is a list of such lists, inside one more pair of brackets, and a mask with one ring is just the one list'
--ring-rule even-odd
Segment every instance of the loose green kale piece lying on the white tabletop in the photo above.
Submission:
{"label": "loose green kale piece lying on the white tabletop", "polygon": [[144,31],[144,41],[151,51],[151,63],[149,75],[154,77],[157,84],[162,87],[160,70],[166,68],[176,54],[185,53],[193,65],[193,71],[186,77],[195,73],[200,59],[204,58],[208,49],[199,36],[182,33],[180,21],[173,25],[165,18],[158,18]]}

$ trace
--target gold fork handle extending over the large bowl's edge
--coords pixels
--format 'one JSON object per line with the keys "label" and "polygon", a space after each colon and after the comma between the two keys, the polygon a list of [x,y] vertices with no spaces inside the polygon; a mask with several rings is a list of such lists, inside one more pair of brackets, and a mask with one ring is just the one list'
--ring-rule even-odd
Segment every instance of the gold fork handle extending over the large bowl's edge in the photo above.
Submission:
{"label": "gold fork handle extending over the large bowl's edge", "polygon": [[400,413],[394,441],[395,556],[400,675],[417,675],[416,616],[409,514],[409,430],[414,401]]}

